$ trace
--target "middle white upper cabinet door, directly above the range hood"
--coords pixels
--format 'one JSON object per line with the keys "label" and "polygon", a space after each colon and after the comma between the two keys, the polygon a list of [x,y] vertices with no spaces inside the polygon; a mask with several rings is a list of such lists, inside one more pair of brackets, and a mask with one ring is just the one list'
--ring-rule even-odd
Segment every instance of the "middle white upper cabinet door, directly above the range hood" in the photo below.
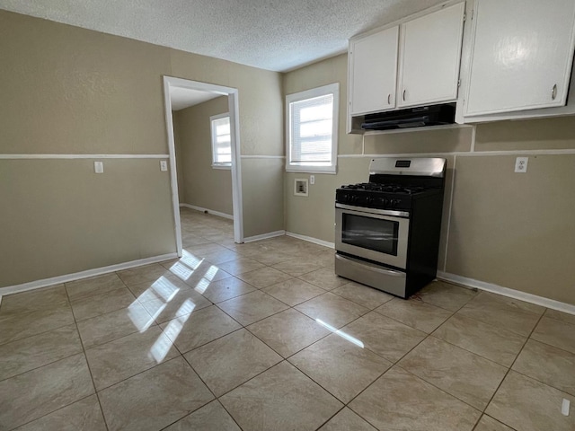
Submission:
{"label": "middle white upper cabinet door, directly above the range hood", "polygon": [[397,104],[455,101],[465,4],[402,24]]}

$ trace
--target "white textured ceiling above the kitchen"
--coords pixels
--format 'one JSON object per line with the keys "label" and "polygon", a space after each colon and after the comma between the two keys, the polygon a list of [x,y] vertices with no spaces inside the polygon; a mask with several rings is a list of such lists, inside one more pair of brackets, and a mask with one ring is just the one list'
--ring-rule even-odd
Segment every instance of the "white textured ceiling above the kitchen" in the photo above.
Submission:
{"label": "white textured ceiling above the kitchen", "polygon": [[445,0],[0,0],[0,9],[285,72]]}

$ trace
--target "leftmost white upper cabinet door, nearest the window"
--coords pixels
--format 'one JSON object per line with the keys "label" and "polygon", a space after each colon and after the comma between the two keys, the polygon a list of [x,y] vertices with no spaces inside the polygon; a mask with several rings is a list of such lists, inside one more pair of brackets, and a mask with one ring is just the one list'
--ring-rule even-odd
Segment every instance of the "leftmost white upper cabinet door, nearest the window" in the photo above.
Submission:
{"label": "leftmost white upper cabinet door, nearest the window", "polygon": [[351,115],[395,108],[399,27],[349,42]]}

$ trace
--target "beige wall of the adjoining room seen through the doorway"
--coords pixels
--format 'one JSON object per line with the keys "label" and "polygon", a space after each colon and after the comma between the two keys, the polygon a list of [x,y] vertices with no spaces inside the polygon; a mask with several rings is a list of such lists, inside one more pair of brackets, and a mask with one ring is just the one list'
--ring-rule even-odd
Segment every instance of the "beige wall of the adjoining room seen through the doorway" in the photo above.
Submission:
{"label": "beige wall of the adjoining room seen through the doorway", "polygon": [[[205,101],[185,110],[173,112],[176,159],[182,189],[181,204],[207,208],[227,215],[232,206],[232,173],[212,168],[211,123],[213,115],[228,111],[227,96]],[[175,137],[177,136],[177,137]]]}

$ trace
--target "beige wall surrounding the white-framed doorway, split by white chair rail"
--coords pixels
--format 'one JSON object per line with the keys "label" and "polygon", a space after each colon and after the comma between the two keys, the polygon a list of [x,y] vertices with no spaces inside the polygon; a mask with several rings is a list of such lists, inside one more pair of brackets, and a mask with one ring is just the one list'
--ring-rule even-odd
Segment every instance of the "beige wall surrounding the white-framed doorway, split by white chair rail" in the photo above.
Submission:
{"label": "beige wall surrounding the white-framed doorway, split by white chair rail", "polygon": [[[0,154],[128,154],[105,159],[102,175],[90,158],[0,155],[9,208],[0,212],[0,287],[175,251],[162,156],[138,158],[168,151],[163,75],[237,88],[242,154],[283,154],[278,73],[5,11],[0,57]],[[248,182],[268,169],[245,164]],[[283,177],[270,174],[243,189],[246,236],[283,228]]]}

